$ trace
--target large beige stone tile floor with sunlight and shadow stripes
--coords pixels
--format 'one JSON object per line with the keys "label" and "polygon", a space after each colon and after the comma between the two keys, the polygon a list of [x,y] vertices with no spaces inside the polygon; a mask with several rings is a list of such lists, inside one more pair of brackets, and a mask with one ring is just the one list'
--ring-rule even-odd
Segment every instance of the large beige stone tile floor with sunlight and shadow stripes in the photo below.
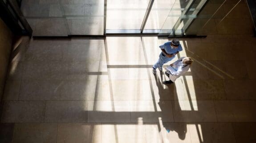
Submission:
{"label": "large beige stone tile floor with sunlight and shadow stripes", "polygon": [[167,41],[24,37],[12,55],[1,140],[254,143],[255,38],[181,38],[183,51],[174,60],[190,56],[195,62],[168,86],[165,75],[151,71],[158,46]]}

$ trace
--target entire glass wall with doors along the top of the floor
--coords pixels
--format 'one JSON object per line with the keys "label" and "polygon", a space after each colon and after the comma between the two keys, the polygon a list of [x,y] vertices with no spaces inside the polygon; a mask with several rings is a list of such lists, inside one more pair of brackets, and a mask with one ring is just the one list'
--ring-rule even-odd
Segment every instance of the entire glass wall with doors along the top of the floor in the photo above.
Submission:
{"label": "entire glass wall with doors along the top of the floor", "polygon": [[207,35],[239,3],[244,0],[22,0],[21,10],[36,36]]}

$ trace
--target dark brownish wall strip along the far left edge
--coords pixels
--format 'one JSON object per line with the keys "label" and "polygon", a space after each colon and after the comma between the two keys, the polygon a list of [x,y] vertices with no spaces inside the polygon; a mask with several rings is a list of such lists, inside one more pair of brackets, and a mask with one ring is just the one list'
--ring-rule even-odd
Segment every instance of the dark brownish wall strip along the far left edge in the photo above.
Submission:
{"label": "dark brownish wall strip along the far left edge", "polygon": [[12,32],[0,19],[0,100],[3,96],[4,81],[12,49]]}

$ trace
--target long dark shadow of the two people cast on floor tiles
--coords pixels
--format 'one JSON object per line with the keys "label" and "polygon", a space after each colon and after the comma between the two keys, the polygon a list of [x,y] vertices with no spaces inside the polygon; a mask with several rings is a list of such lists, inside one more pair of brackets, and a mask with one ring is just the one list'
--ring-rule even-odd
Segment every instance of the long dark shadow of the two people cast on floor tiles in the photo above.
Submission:
{"label": "long dark shadow of the two people cast on floor tiles", "polygon": [[[163,77],[161,77],[161,80],[157,75],[154,75],[156,85],[158,87],[158,94],[159,94],[159,102],[158,105],[161,109],[161,112],[172,112],[170,108],[166,108],[166,104],[169,104],[170,102],[166,102],[167,100],[174,100],[175,97],[177,97],[176,87],[175,83],[172,83],[170,85],[166,85],[168,88],[164,88],[163,86]],[[167,77],[168,78],[168,77]],[[176,98],[177,99],[177,98]],[[176,109],[177,110],[177,109]],[[178,110],[181,110],[180,108]],[[170,131],[176,131],[179,135],[179,139],[184,140],[187,133],[187,124],[186,123],[173,123],[169,122],[168,119],[166,119],[164,116],[162,116],[162,122],[163,127],[166,129],[166,131],[169,133]],[[160,128],[161,131],[162,128]],[[160,132],[159,131],[159,132]]]}

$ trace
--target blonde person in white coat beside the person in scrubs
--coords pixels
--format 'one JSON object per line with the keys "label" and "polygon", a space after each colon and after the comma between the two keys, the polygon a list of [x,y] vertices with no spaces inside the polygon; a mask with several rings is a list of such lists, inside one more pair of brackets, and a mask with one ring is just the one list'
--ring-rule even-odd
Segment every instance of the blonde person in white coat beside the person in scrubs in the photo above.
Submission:
{"label": "blonde person in white coat beside the person in scrubs", "polygon": [[170,78],[169,81],[163,81],[164,84],[173,83],[178,77],[186,73],[193,60],[190,57],[181,57],[176,62],[166,68],[165,74]]}

